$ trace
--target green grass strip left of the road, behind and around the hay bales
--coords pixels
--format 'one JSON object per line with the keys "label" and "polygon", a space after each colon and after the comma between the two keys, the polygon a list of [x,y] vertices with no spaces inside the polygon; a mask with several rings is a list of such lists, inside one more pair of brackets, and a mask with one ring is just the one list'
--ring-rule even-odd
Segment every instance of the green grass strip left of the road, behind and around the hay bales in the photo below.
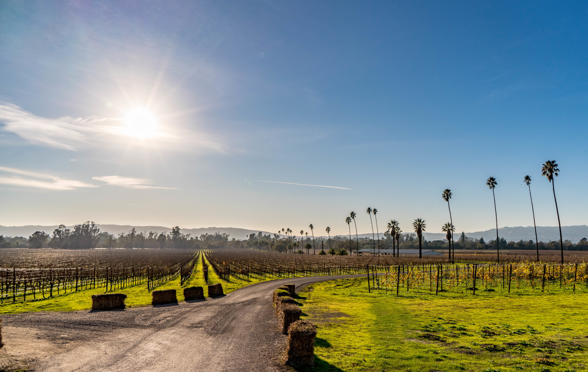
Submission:
{"label": "green grass strip left of the road, behind and around the hay bales", "polygon": [[[202,286],[204,288],[205,296],[208,295],[208,287],[206,286],[206,282],[204,281],[202,267],[204,265],[210,265],[206,258],[203,255],[200,255],[198,258],[198,262],[194,266],[194,270],[190,278],[184,283],[183,286],[180,285],[180,278],[170,280],[163,285],[156,287],[155,290],[158,289],[176,289],[178,301],[183,301],[183,288],[189,286]],[[245,280],[239,280],[236,278],[231,277],[230,283],[225,282],[224,280],[220,279],[215,271],[209,266],[208,270],[208,279],[210,284],[222,283],[223,290],[226,293],[230,293],[235,289],[244,287],[246,285],[250,285],[253,283],[257,283],[260,280],[252,279],[250,282],[246,282]],[[27,302],[16,302],[12,303],[9,301],[5,301],[3,305],[0,305],[0,314],[15,314],[15,313],[22,313],[22,312],[39,312],[39,311],[49,311],[49,312],[65,312],[65,311],[74,311],[74,310],[88,310],[92,308],[92,295],[97,295],[100,293],[105,293],[104,288],[96,288],[96,289],[86,289],[80,290],[78,292],[71,292],[67,294],[62,294],[59,296],[53,296],[52,298],[46,299],[37,299],[35,301],[27,301]],[[146,283],[141,285],[126,287],[123,289],[115,289],[109,293],[125,293],[126,300],[126,307],[139,307],[139,306],[150,306],[151,305],[151,292],[147,290]]]}

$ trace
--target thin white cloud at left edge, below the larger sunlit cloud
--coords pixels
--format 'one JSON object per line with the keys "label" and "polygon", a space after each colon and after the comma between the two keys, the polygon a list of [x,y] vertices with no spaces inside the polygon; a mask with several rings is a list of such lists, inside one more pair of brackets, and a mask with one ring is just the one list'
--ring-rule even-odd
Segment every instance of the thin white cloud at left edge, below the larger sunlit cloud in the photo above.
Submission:
{"label": "thin white cloud at left edge, below the larger sunlit cloud", "polygon": [[[6,174],[18,174],[7,177]],[[26,176],[19,177],[19,176]],[[54,175],[24,171],[16,168],[0,167],[0,184],[45,188],[48,190],[76,190],[78,188],[98,187],[82,181],[65,180]]]}

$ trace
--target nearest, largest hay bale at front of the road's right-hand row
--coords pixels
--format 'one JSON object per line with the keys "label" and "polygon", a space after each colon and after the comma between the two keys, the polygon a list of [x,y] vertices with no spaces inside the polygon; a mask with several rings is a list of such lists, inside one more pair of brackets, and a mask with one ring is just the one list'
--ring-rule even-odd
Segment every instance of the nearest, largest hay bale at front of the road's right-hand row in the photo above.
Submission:
{"label": "nearest, largest hay bale at front of the road's right-hand row", "polygon": [[292,367],[315,366],[315,324],[298,320],[288,327],[286,364]]}

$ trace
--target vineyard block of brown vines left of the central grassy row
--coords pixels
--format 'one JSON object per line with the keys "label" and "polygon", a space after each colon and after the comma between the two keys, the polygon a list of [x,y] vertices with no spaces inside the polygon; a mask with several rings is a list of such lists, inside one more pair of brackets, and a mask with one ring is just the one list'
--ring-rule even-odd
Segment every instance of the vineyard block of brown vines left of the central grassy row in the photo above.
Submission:
{"label": "vineyard block of brown vines left of the central grassy row", "polygon": [[155,288],[192,274],[195,249],[86,249],[0,252],[0,302],[36,300],[85,289]]}

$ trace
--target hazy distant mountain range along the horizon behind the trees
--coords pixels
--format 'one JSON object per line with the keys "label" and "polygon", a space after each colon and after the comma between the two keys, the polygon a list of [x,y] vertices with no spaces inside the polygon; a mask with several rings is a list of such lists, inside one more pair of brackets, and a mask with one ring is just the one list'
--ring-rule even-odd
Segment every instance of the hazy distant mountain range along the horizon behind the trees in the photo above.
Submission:
{"label": "hazy distant mountain range along the horizon behind the trees", "polygon": [[[73,226],[67,226],[68,229],[72,229]],[[165,226],[132,226],[132,225],[98,225],[101,231],[108,231],[111,234],[118,235],[121,233],[128,233],[133,227],[136,231],[157,231],[157,232],[171,232],[172,229]],[[39,225],[26,225],[26,226],[2,226],[0,225],[0,235],[4,236],[24,236],[28,238],[35,231],[45,231],[51,235],[52,232],[58,228],[54,226],[39,226]],[[181,229],[183,234],[192,234],[192,236],[200,236],[201,234],[214,234],[220,232],[220,234],[229,234],[230,238],[235,239],[246,239],[249,234],[258,234],[260,230],[249,230],[235,227],[207,227],[207,228],[195,228],[195,229]],[[264,235],[273,235],[268,231],[261,231]],[[533,226],[516,226],[498,229],[498,233],[501,238],[505,238],[506,241],[519,241],[523,240],[535,240],[535,231]],[[455,232],[455,239],[459,238],[461,232]],[[570,241],[576,243],[582,238],[588,238],[588,226],[562,226],[563,239],[570,239]],[[309,235],[310,236],[310,235]],[[355,234],[352,234],[355,236]],[[359,234],[359,238],[371,238],[372,234]],[[383,233],[380,232],[380,238]],[[483,236],[485,241],[496,239],[496,229],[490,229],[486,231],[466,232],[466,236],[470,238],[480,238]],[[548,242],[550,240],[559,240],[559,228],[557,226],[537,226],[537,236],[539,241]],[[327,239],[328,236],[315,236],[316,239]],[[423,238],[428,241],[442,240],[445,239],[444,233],[433,233],[423,232]]]}

